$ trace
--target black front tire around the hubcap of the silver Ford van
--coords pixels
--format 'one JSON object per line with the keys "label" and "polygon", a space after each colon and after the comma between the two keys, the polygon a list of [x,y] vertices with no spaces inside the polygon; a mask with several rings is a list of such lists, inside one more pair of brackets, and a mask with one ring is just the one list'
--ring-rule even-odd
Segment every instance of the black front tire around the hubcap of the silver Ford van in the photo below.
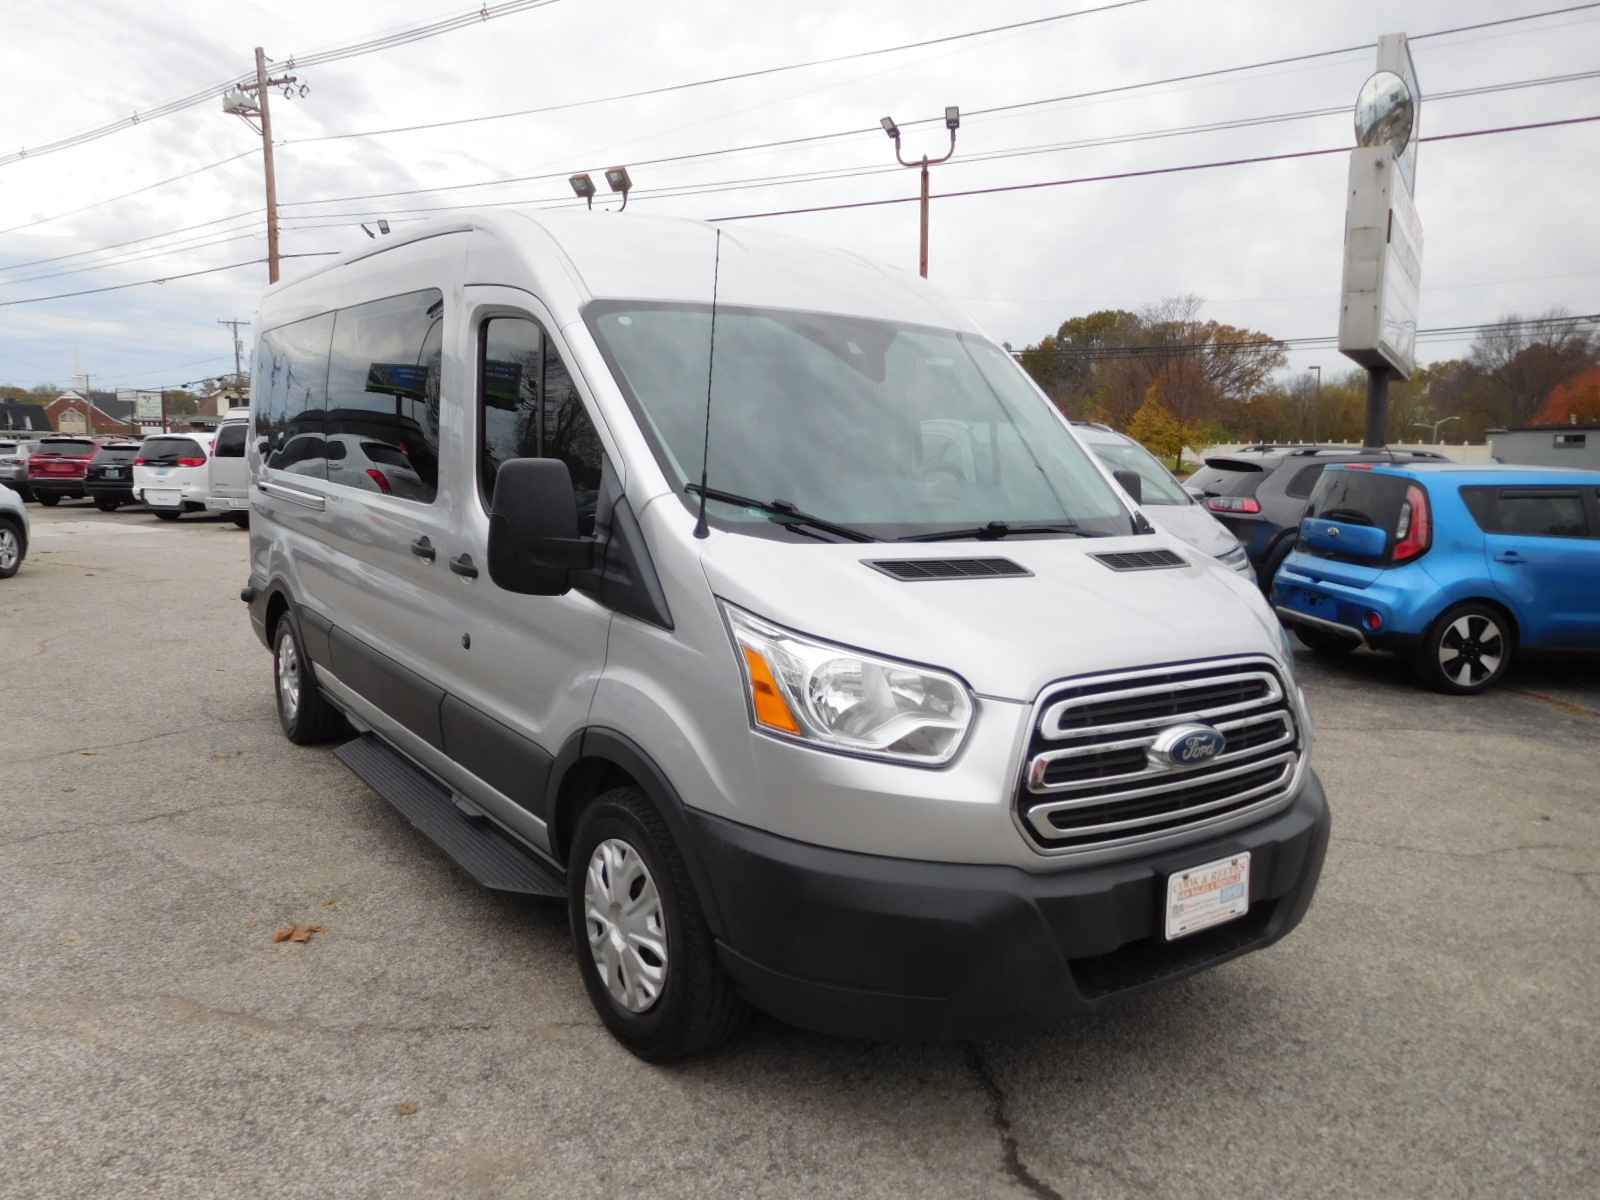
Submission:
{"label": "black front tire around the hubcap of the silver Ford van", "polygon": [[[610,846],[613,854],[621,846],[634,858],[608,861],[600,854],[603,846]],[[634,901],[648,894],[650,886],[656,893],[653,912],[640,914],[635,906],[629,907],[635,909],[635,920],[659,920],[659,934],[651,923],[645,944],[635,950],[635,973],[643,965],[650,971],[659,968],[662,976],[653,984],[637,982],[629,987],[627,973],[619,962],[614,982],[621,990],[634,994],[629,1002],[613,995],[597,957],[605,954],[608,930],[616,930],[603,922],[627,914],[616,907],[610,912],[602,909],[590,920],[590,866],[595,869],[597,896],[603,896],[611,885],[627,888]],[[632,869],[634,874],[618,880],[614,875],[608,877],[613,867]],[[566,880],[566,909],[578,970],[590,1003],[618,1042],[646,1062],[675,1062],[717,1050],[744,1027],[750,1010],[717,960],[717,947],[683,856],[661,813],[643,792],[637,787],[616,787],[584,810],[573,830]],[[595,933],[594,942],[590,931]],[[621,933],[618,938],[611,941],[613,947],[624,946]],[[664,957],[656,955],[659,963],[651,963],[651,938],[654,946],[664,946],[666,950]]]}

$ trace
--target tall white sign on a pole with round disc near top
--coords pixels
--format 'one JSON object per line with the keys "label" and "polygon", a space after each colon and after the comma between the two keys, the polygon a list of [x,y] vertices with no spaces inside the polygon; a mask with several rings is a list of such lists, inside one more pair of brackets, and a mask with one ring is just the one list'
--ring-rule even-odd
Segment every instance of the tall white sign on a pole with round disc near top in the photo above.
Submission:
{"label": "tall white sign on a pole with round disc near top", "polygon": [[1339,301],[1339,350],[1366,368],[1370,450],[1389,442],[1389,381],[1416,370],[1422,222],[1411,197],[1421,102],[1405,34],[1386,34],[1378,70],[1355,98]]}

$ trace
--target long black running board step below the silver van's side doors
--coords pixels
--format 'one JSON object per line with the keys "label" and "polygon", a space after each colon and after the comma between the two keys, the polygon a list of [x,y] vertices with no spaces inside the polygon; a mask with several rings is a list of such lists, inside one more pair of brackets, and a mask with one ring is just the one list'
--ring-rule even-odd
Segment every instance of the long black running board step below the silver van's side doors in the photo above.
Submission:
{"label": "long black running board step below the silver van's side doors", "polygon": [[456,805],[450,789],[370,733],[346,742],[334,754],[485,888],[566,899],[566,885],[554,869],[534,859],[490,821],[469,816]]}

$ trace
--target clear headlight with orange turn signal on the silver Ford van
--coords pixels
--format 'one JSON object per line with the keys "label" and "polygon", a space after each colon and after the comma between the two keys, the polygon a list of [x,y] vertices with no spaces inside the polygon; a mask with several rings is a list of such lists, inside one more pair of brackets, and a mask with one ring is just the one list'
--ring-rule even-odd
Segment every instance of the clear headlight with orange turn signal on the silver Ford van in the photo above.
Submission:
{"label": "clear headlight with orange turn signal on the silver Ford van", "polygon": [[973,698],[955,675],[802,637],[726,603],[722,611],[762,733],[922,766],[962,747]]}

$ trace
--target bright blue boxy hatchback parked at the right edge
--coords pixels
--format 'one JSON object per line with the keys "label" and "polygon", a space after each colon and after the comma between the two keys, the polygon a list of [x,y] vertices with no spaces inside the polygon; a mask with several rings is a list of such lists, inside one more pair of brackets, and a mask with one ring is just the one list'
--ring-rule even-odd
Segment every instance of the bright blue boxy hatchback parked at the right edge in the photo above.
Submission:
{"label": "bright blue boxy hatchback parked at the right edge", "polygon": [[1600,650],[1600,472],[1330,466],[1272,605],[1312,650],[1366,643],[1470,694],[1520,650]]}

